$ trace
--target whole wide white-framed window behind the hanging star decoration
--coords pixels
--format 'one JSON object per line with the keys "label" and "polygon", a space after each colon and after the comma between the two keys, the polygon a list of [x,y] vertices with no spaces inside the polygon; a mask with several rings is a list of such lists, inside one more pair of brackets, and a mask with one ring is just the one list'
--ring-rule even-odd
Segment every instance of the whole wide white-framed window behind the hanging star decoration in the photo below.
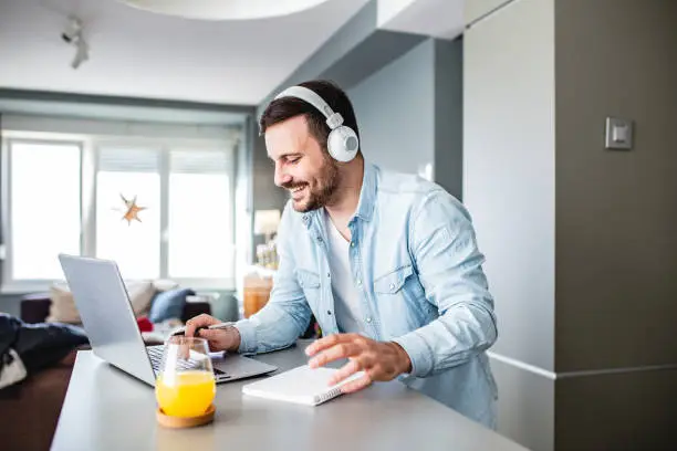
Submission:
{"label": "whole wide white-framed window behind the hanging star decoration", "polygon": [[[2,146],[4,291],[62,281],[61,252],[114,260],[126,280],[233,287],[228,140],[10,135]],[[138,220],[123,218],[125,201],[142,208]]]}

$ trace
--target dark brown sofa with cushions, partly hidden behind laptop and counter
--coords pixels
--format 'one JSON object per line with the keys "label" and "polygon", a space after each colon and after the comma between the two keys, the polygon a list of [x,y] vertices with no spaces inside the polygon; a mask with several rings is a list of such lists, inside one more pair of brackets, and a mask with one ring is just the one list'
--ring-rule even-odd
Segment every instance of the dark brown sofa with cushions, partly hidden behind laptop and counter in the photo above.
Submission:
{"label": "dark brown sofa with cushions, partly hidden behind laptop and counter", "polygon": [[[45,322],[51,303],[49,293],[23,296],[21,319],[25,323]],[[186,322],[201,313],[211,313],[209,303],[187,302],[181,321]],[[0,449],[50,449],[79,349],[73,349],[58,365],[29,375],[23,381],[0,390]]]}

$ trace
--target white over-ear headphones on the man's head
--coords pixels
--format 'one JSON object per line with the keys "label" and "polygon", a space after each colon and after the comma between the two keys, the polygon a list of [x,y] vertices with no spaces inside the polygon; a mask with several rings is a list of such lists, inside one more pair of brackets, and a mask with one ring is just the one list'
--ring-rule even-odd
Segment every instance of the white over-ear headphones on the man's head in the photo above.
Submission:
{"label": "white over-ear headphones on the man's head", "polygon": [[308,87],[291,86],[278,94],[275,99],[280,97],[296,97],[317,108],[326,117],[326,125],[331,128],[330,135],[326,138],[326,148],[332,158],[343,162],[355,158],[360,148],[357,134],[351,127],[342,125],[343,116],[334,113],[317,93]]}

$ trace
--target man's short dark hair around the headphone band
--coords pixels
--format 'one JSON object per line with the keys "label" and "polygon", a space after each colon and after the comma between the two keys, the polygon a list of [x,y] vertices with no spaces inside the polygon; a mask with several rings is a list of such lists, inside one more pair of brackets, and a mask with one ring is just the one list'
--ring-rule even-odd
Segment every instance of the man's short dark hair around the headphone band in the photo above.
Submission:
{"label": "man's short dark hair around the headphone band", "polygon": [[[357,138],[360,138],[353,104],[341,87],[327,80],[303,82],[300,83],[299,86],[314,91],[315,94],[327,103],[334,113],[340,113],[341,116],[343,116],[343,125],[355,130]],[[272,101],[261,115],[259,130],[261,135],[263,135],[268,127],[299,115],[305,115],[311,135],[320,143],[320,146],[326,150],[326,138],[331,132],[329,125],[326,125],[326,117],[324,117],[324,115],[313,105],[301,98],[282,97]]]}

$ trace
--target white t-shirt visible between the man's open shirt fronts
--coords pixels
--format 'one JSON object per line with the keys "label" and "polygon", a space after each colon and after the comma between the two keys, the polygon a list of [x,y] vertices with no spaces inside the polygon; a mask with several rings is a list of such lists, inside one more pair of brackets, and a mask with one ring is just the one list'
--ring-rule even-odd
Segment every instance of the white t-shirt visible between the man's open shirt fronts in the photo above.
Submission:
{"label": "white t-shirt visible between the man's open shirt fronts", "polygon": [[360,293],[355,289],[355,277],[351,270],[350,242],[338,232],[326,210],[323,217],[324,229],[329,235],[329,264],[336,325],[338,331],[344,333],[361,333],[363,314]]}

